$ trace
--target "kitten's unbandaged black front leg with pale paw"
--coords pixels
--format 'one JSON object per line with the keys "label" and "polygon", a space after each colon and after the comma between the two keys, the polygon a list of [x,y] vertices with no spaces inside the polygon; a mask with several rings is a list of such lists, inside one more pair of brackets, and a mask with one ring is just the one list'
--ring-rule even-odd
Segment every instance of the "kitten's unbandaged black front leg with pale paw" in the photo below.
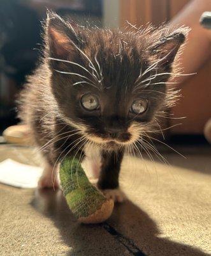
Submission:
{"label": "kitten's unbandaged black front leg with pale paw", "polygon": [[102,154],[101,173],[98,180],[98,188],[103,190],[107,198],[115,202],[123,202],[126,196],[119,189],[119,172],[124,152],[104,152]]}

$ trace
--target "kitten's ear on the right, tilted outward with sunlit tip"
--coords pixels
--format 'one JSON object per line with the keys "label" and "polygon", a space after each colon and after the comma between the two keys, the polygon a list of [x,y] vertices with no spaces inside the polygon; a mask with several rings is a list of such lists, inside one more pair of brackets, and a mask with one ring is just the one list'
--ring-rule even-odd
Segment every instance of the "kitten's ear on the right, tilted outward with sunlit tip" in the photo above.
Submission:
{"label": "kitten's ear on the right, tilted outward with sunlit tip", "polygon": [[180,29],[171,35],[162,36],[159,42],[150,49],[150,54],[158,61],[157,67],[169,68],[171,66],[178,49],[186,40],[186,35],[187,29]]}

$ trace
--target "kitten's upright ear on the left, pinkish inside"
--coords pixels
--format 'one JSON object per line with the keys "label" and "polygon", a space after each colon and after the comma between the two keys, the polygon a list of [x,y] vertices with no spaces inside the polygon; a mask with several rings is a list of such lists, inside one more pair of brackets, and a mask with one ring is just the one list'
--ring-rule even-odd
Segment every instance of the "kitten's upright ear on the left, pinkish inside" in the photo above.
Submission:
{"label": "kitten's upright ear on the left, pinkish inside", "polygon": [[74,22],[66,22],[54,12],[47,13],[46,35],[50,56],[66,58],[80,47],[80,38],[77,34],[78,26]]}

